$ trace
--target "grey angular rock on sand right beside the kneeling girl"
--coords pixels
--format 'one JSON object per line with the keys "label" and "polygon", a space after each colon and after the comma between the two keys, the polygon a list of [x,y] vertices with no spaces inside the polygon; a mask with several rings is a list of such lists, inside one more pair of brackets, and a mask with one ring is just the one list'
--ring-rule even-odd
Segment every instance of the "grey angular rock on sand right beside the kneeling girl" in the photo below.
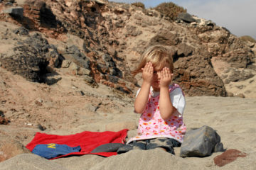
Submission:
{"label": "grey angular rock on sand right beside the kneeling girl", "polygon": [[213,152],[223,152],[220,136],[213,128],[203,126],[186,132],[181,145],[181,157],[207,157]]}

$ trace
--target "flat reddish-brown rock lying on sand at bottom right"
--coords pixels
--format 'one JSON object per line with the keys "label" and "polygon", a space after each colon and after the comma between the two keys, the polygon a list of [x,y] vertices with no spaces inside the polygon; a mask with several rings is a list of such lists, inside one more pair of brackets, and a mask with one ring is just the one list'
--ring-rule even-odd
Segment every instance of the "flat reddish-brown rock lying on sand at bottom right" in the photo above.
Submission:
{"label": "flat reddish-brown rock lying on sand at bottom right", "polygon": [[215,157],[213,160],[216,165],[221,167],[226,164],[229,164],[230,162],[235,161],[235,159],[237,159],[238,157],[246,157],[246,156],[247,154],[240,152],[237,149],[228,149],[222,154]]}

